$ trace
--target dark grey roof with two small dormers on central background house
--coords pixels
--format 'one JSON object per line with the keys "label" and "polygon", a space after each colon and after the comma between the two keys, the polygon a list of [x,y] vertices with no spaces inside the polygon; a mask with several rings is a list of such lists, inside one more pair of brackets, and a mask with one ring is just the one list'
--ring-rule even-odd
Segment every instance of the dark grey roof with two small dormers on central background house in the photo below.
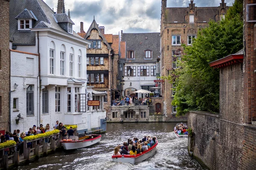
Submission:
{"label": "dark grey roof with two small dormers on central background house", "polygon": [[[125,59],[125,62],[155,62],[160,56],[160,33],[123,33],[122,41],[126,42],[127,51],[134,50],[134,59]],[[122,43],[123,45],[123,43]],[[123,48],[123,47],[122,47]],[[121,48],[121,58],[123,57]],[[152,58],[145,59],[145,50],[152,51]]]}

